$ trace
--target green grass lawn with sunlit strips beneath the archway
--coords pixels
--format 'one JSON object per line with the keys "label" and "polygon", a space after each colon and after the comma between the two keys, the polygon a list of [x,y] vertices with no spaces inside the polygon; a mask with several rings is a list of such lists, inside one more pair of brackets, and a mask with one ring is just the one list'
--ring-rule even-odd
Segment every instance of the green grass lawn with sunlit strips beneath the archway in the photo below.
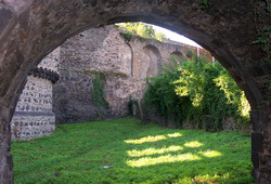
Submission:
{"label": "green grass lawn with sunlit strips beneath the archway", "polygon": [[12,143],[15,183],[254,183],[250,137],[124,118]]}

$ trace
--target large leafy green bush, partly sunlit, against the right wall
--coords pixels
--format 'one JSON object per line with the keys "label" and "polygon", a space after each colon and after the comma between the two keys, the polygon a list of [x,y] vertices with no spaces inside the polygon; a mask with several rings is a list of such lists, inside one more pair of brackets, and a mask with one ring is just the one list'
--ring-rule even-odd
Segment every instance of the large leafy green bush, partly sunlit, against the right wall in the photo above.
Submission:
{"label": "large leafy green bush, partly sunlit, against the right wall", "polygon": [[234,117],[237,126],[248,121],[250,109],[244,92],[219,63],[194,56],[192,61],[173,61],[163,74],[151,78],[144,101],[177,126],[218,131],[222,120]]}

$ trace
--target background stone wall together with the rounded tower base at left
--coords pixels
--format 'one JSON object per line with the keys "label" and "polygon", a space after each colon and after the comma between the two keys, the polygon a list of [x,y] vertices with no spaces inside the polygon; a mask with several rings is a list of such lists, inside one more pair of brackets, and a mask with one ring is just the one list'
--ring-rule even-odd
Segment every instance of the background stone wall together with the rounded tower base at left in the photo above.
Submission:
{"label": "background stone wall together with the rounded tower base at left", "polygon": [[[104,118],[127,116],[130,98],[143,97],[145,78],[157,75],[163,63],[170,63],[170,55],[191,57],[190,53],[199,51],[210,56],[204,49],[170,40],[163,43],[136,36],[127,41],[115,26],[83,31],[29,71],[11,123],[12,139],[51,134],[55,122],[96,120],[99,110],[90,89],[95,75],[101,74],[109,104],[108,109],[102,109]],[[57,74],[61,77],[55,83]]]}

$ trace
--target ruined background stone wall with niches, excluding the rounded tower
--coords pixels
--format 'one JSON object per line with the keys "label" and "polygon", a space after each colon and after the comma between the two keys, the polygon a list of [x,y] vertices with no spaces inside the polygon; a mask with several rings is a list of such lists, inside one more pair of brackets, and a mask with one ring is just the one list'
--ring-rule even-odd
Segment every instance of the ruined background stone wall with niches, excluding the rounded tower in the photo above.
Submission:
{"label": "ruined background stone wall with niches, excluding the rounded tower", "polygon": [[143,97],[144,79],[157,75],[163,63],[170,63],[170,55],[183,58],[191,57],[190,52],[205,52],[169,40],[163,43],[134,36],[127,41],[115,26],[83,31],[68,39],[60,50],[61,78],[53,86],[56,123],[98,118],[90,93],[95,75],[104,76],[105,98],[109,104],[108,109],[102,110],[104,118],[118,118],[128,115],[130,98]]}

